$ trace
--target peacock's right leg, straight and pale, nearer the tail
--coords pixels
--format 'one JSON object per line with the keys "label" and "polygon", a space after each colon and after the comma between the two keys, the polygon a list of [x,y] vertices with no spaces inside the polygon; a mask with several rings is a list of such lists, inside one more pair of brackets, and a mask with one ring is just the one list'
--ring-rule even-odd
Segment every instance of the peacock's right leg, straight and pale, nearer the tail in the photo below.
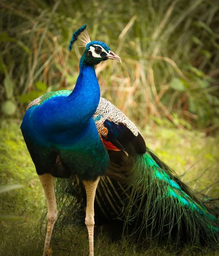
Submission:
{"label": "peacock's right leg, straight and pale, nearer the tail", "polygon": [[84,181],[87,195],[85,224],[88,229],[89,256],[94,256],[94,197],[100,177],[95,181]]}

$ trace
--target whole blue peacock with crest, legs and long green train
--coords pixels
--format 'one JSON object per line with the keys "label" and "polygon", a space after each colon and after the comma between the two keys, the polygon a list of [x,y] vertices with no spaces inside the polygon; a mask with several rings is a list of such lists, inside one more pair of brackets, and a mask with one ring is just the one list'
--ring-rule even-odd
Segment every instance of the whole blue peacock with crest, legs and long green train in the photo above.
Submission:
{"label": "whole blue peacock with crest, legs and long green train", "polygon": [[[100,97],[94,66],[114,59],[106,43],[91,41],[86,25],[72,36],[85,51],[73,91],[48,92],[28,106],[21,131],[47,202],[43,256],[57,219],[54,179],[67,178],[86,204],[89,255],[94,256],[95,221],[122,223],[129,236],[219,246],[219,220],[146,147],[137,126]],[[63,192],[65,192],[63,187]]]}

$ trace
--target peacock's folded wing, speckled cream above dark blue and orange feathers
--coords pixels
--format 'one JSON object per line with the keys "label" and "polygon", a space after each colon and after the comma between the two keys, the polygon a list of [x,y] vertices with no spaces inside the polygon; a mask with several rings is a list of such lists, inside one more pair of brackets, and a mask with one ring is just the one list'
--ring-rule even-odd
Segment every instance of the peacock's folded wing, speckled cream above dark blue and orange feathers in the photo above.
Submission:
{"label": "peacock's folded wing, speckled cream above dark blue and orange feathers", "polygon": [[93,118],[107,150],[123,151],[127,156],[145,153],[146,145],[140,131],[111,102],[100,98]]}

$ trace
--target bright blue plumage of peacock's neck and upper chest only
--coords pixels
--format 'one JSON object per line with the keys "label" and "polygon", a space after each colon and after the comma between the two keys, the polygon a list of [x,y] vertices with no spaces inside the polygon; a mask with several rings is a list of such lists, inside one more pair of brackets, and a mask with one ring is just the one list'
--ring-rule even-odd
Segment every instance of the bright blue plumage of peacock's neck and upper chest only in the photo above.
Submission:
{"label": "bright blue plumage of peacock's neck and upper chest only", "polygon": [[[81,141],[85,136],[84,143],[92,136],[93,142],[96,142],[98,133],[92,116],[99,101],[100,86],[94,66],[81,61],[80,74],[73,92],[67,97],[51,97],[43,104],[28,109],[23,120],[27,126],[23,124],[22,129],[26,129],[32,138],[47,146],[72,145],[75,140]],[[79,146],[80,143],[75,144],[75,147]],[[81,143],[81,146],[84,144]]]}

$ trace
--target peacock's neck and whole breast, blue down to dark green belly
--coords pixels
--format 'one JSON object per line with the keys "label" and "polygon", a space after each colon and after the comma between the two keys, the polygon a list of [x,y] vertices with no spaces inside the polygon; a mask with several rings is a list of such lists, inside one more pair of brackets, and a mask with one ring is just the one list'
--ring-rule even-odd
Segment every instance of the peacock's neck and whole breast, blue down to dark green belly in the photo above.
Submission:
{"label": "peacock's neck and whole breast, blue down to dark green belly", "polygon": [[94,67],[88,66],[69,96],[51,97],[27,110],[21,130],[38,174],[54,169],[57,156],[81,179],[105,174],[108,154],[92,118],[99,100]]}

